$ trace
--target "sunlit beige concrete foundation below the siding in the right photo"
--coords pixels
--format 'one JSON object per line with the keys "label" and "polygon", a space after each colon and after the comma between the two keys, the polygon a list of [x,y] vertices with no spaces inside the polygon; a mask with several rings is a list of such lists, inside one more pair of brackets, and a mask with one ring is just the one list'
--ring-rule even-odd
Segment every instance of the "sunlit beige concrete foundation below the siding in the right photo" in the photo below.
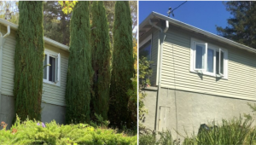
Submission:
{"label": "sunlit beige concrete foundation below the siding in the right photo", "polygon": [[[154,130],[155,107],[157,88],[150,87],[145,90],[145,106],[148,114],[143,122],[148,129]],[[211,96],[182,90],[160,89],[159,107],[156,118],[156,131],[171,130],[173,137],[176,131],[185,136],[197,131],[201,124],[207,124],[213,120],[221,123],[222,119],[243,116],[243,113],[252,113],[247,102],[253,101]]]}

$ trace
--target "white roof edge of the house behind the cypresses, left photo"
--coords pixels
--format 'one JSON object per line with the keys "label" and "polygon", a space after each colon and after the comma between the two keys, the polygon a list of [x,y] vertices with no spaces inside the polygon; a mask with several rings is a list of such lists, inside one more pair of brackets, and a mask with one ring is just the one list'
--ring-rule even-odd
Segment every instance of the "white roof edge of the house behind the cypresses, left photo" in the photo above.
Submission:
{"label": "white roof edge of the house behind the cypresses, left photo", "polygon": [[[11,29],[14,29],[14,30],[18,29],[17,25],[15,25],[14,23],[11,23],[11,22],[9,22],[7,20],[0,19],[0,23],[3,24],[4,26],[10,26]],[[64,49],[66,51],[69,51],[69,47],[67,45],[58,43],[55,40],[50,39],[50,38],[44,37],[44,43],[53,45],[53,46],[55,46],[55,47],[57,47],[59,49]]]}

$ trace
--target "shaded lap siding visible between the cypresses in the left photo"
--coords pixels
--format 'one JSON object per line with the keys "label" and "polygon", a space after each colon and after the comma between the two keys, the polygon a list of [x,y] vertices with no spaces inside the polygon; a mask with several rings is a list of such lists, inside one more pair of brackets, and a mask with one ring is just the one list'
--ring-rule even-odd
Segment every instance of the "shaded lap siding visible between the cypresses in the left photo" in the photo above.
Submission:
{"label": "shaded lap siding visible between the cypresses in the left photo", "polygon": [[[5,29],[6,27],[1,27],[3,34],[6,33],[6,31],[4,32]],[[6,96],[14,96],[15,44],[15,31],[11,30],[11,34],[6,38],[3,45],[2,94]],[[48,44],[44,44],[44,48],[49,52],[61,53],[61,86],[43,83],[42,101],[65,106],[68,52],[56,49]]]}

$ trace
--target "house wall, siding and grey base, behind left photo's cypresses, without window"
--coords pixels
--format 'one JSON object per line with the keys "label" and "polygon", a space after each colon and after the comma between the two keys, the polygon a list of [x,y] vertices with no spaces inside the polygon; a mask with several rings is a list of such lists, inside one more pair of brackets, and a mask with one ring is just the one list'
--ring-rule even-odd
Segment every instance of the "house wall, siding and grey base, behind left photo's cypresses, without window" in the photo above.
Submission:
{"label": "house wall, siding and grey base, behind left photo's cypresses, without window", "polygon": [[[0,26],[0,32],[6,33],[6,26]],[[3,67],[2,67],[2,95],[0,104],[0,121],[6,118],[3,113],[4,110],[14,110],[14,76],[15,76],[15,30],[11,29],[10,35],[5,38],[3,44]],[[44,49],[49,52],[61,54],[61,86],[43,83],[43,96],[42,96],[42,121],[49,121],[55,119],[57,123],[64,123],[65,116],[65,92],[66,92],[66,78],[69,53],[63,49],[55,48],[49,44],[44,44]],[[43,62],[42,62],[43,65]],[[6,97],[8,99],[6,99]],[[3,100],[3,102],[2,102]],[[49,111],[51,109],[51,112]],[[13,113],[9,113],[13,116]],[[9,120],[11,120],[8,117]],[[63,120],[62,120],[63,119]],[[11,124],[11,122],[10,122]],[[9,125],[10,125],[9,124]]]}

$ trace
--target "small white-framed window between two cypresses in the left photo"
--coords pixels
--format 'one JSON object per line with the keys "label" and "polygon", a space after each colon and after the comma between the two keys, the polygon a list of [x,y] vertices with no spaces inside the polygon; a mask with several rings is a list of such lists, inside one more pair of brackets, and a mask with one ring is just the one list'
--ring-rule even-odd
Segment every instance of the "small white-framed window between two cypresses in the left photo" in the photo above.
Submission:
{"label": "small white-framed window between two cypresses in the left photo", "polygon": [[44,83],[60,86],[61,55],[45,52],[44,55]]}

